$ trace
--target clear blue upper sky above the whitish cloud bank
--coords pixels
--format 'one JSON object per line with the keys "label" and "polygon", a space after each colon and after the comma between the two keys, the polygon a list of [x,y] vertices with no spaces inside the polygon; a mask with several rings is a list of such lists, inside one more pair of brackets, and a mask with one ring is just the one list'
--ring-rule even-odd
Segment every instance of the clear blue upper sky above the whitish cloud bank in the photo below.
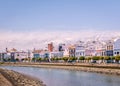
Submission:
{"label": "clear blue upper sky above the whitish cloud bank", "polygon": [[120,0],[0,0],[0,30],[119,30]]}

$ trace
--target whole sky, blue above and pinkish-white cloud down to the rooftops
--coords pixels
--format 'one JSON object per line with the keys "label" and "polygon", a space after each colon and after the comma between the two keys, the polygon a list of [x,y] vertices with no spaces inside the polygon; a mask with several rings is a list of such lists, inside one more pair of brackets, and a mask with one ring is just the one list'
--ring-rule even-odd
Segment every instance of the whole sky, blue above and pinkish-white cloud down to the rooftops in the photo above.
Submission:
{"label": "whole sky, blue above and pinkish-white cloud down to the rooftops", "polygon": [[119,36],[119,22],[120,0],[0,0],[0,47]]}

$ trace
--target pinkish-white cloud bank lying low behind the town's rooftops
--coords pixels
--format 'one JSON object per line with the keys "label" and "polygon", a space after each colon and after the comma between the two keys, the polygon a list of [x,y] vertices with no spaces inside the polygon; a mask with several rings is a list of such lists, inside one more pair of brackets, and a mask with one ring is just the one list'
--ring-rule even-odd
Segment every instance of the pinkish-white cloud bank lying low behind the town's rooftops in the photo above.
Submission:
{"label": "pinkish-white cloud bank lying low behind the town's rooftops", "polygon": [[2,31],[0,34],[1,50],[8,48],[17,48],[27,50],[33,48],[45,48],[47,44],[53,42],[54,45],[59,43],[74,43],[78,40],[86,41],[88,39],[110,39],[111,37],[120,36],[120,32],[113,31],[35,31],[35,32],[7,32]]}

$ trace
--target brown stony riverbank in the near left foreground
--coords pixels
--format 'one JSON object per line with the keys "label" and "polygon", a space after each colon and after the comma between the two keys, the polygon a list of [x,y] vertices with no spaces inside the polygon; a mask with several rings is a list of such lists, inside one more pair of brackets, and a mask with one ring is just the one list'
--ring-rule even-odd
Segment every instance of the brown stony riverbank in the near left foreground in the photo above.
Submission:
{"label": "brown stony riverbank in the near left foreground", "polygon": [[1,86],[46,86],[30,76],[18,72],[0,68],[0,85]]}

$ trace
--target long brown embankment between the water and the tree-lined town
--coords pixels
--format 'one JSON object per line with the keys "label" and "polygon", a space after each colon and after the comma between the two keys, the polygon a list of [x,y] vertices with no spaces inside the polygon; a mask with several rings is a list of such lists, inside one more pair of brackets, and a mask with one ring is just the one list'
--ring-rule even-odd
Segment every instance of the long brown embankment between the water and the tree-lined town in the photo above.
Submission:
{"label": "long brown embankment between the water and the tree-lined town", "polygon": [[73,71],[95,72],[101,74],[120,75],[120,64],[17,62],[17,63],[3,63],[1,64],[1,66],[54,68]]}

